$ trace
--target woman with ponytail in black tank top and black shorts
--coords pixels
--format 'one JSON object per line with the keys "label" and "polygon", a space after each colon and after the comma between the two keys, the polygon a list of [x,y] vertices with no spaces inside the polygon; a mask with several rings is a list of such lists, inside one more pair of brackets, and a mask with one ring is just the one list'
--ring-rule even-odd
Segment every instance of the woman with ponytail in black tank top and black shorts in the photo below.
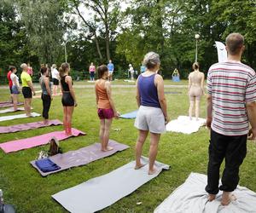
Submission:
{"label": "woman with ponytail in black tank top and black shorts", "polygon": [[77,107],[77,101],[73,90],[73,81],[68,75],[70,71],[68,63],[62,63],[59,69],[61,76],[62,106],[63,106],[63,125],[67,135],[72,135],[72,116],[73,107]]}

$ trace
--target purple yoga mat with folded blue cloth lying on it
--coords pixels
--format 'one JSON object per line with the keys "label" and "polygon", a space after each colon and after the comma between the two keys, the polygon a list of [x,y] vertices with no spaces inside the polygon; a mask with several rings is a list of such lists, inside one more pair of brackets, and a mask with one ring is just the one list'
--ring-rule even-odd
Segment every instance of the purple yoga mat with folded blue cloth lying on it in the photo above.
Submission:
{"label": "purple yoga mat with folded blue cloth lying on it", "polygon": [[36,165],[36,161],[33,160],[30,162],[34,168],[38,170],[41,176],[48,176],[55,172],[59,172],[61,170],[67,170],[72,167],[80,166],[89,164],[90,162],[96,161],[101,158],[106,158],[114,153],[123,151],[127,148],[125,144],[118,143],[117,141],[109,141],[109,146],[113,147],[113,150],[109,152],[102,152],[101,151],[101,144],[95,143],[90,145],[89,147],[83,147],[79,150],[69,151],[67,153],[56,154],[55,156],[49,157],[49,159],[61,167],[60,170],[55,170],[51,172],[43,172],[39,170],[38,166]]}

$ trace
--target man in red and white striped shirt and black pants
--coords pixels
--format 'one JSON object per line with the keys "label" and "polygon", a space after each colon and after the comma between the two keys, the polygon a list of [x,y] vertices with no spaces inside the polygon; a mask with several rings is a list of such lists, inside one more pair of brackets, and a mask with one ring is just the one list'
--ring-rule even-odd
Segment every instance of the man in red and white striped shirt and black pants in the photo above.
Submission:
{"label": "man in red and white striped shirt and black pants", "polygon": [[[207,75],[207,127],[211,128],[207,171],[208,199],[224,191],[221,204],[236,199],[231,194],[239,182],[239,167],[247,153],[249,123],[256,136],[256,76],[241,63],[244,38],[231,33],[226,38],[228,60],[214,64]],[[219,167],[225,159],[222,185],[218,188]]]}

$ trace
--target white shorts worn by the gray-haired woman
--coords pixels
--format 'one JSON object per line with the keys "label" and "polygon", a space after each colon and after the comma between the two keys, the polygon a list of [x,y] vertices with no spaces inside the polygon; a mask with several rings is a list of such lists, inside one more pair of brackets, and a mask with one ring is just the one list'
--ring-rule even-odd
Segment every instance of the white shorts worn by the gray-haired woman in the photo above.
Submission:
{"label": "white shorts worn by the gray-haired woman", "polygon": [[137,112],[134,126],[138,130],[161,134],[166,131],[165,117],[160,108],[141,106]]}

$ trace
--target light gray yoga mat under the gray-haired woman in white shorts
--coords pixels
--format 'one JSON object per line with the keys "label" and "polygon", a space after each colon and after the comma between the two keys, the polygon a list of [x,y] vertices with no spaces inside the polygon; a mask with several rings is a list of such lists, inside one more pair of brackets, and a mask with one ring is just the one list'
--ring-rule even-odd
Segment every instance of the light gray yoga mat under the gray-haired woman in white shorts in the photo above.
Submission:
{"label": "light gray yoga mat under the gray-haired woman in white shorts", "polygon": [[76,187],[55,193],[52,197],[70,212],[87,213],[102,210],[158,176],[161,170],[169,170],[170,167],[155,162],[158,171],[149,176],[148,158],[143,157],[142,163],[146,165],[140,170],[134,170],[135,161],[132,161],[104,176],[92,178]]}

